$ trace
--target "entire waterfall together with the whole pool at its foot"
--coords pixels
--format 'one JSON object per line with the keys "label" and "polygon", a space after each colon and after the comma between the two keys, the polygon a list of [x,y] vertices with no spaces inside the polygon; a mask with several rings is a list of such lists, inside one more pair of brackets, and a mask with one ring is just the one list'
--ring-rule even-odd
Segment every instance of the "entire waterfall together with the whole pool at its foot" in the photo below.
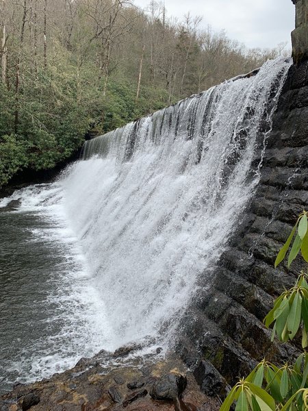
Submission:
{"label": "entire waterfall together with the whole pool at its foot", "polygon": [[167,347],[253,196],[289,67],[90,140],[56,182],[0,200],[0,390],[130,341]]}

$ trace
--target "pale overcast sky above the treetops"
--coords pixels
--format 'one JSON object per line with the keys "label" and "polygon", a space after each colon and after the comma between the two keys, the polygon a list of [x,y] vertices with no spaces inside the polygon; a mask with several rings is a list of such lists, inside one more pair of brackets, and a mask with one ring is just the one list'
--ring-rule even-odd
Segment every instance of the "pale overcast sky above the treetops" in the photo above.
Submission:
{"label": "pale overcast sky above the treetops", "polygon": [[[150,0],[133,0],[146,8]],[[295,6],[291,0],[165,0],[168,16],[179,20],[190,12],[202,16],[201,25],[215,31],[224,29],[229,38],[247,47],[276,47],[287,42],[294,29]]]}

